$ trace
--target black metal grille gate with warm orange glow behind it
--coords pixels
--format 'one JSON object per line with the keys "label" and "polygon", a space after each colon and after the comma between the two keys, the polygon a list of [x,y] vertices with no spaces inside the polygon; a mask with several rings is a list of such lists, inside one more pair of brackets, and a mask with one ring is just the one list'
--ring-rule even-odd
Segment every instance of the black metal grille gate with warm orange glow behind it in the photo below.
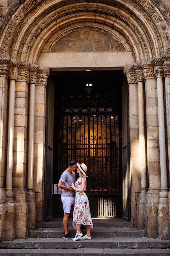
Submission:
{"label": "black metal grille gate with warm orange glow behind it", "polygon": [[[121,216],[121,137],[118,115],[114,116],[112,109],[103,109],[102,114],[88,110],[84,110],[85,114],[66,111],[61,147],[55,149],[58,169],[62,172],[69,159],[86,163],[86,194],[92,216]],[[55,198],[57,207],[60,196],[55,195]]]}

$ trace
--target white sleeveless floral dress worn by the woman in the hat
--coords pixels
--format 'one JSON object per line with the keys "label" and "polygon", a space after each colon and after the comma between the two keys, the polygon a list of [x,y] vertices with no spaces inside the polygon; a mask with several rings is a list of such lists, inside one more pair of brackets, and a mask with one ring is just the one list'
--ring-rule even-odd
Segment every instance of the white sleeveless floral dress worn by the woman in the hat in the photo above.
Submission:
{"label": "white sleeveless floral dress worn by the woman in the hat", "polygon": [[[81,179],[85,178],[85,188],[86,190],[86,177],[79,177],[78,180],[75,182],[76,189],[81,189]],[[84,226],[89,225],[91,228],[93,227],[92,224],[92,217],[90,214],[89,208],[89,199],[86,196],[85,192],[76,192],[75,195],[75,207],[73,212],[73,220],[72,226],[76,230],[76,224],[83,224]]]}

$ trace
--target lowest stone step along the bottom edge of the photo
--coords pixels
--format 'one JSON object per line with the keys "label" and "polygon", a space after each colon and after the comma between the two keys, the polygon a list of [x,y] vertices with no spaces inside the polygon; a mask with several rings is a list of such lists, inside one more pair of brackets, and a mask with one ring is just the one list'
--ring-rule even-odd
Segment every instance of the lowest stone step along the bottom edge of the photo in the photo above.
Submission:
{"label": "lowest stone step along the bottom edge of the photo", "polygon": [[170,249],[13,249],[0,256],[170,256]]}

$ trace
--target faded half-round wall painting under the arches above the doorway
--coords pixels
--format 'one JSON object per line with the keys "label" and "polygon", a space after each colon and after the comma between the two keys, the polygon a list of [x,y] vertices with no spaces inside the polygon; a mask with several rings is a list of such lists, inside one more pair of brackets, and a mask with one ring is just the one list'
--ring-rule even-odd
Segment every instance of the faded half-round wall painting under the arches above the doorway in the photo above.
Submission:
{"label": "faded half-round wall painting under the arches above the doorway", "polygon": [[51,52],[123,52],[123,46],[111,35],[94,29],[79,29],[63,36]]}

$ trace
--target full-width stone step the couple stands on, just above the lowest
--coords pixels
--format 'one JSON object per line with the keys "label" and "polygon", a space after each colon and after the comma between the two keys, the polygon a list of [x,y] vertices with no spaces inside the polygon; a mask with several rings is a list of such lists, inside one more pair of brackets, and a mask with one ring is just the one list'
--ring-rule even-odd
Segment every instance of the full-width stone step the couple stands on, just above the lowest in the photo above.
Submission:
{"label": "full-width stone step the couple stands on, just above the lowest", "polygon": [[63,238],[29,238],[13,241],[2,241],[1,249],[80,249],[80,248],[170,248],[170,240],[160,239],[115,237],[93,238],[85,241],[72,241]]}

